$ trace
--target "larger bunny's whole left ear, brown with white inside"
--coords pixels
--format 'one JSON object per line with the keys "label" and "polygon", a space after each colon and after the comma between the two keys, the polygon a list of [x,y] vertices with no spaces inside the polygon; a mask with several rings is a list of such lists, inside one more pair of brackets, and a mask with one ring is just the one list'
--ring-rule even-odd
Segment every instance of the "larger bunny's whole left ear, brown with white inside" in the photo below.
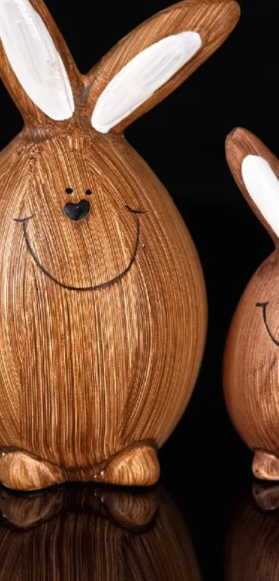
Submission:
{"label": "larger bunny's whole left ear, brown with white inside", "polygon": [[80,83],[71,54],[40,0],[0,0],[0,72],[26,121],[69,119]]}

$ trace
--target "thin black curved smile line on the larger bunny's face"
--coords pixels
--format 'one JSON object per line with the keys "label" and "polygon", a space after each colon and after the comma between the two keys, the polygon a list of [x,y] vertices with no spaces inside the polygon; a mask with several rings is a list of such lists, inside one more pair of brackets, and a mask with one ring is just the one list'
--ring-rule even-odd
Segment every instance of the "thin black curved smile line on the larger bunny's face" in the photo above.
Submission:
{"label": "thin black curved smile line on the larger bunny's face", "polygon": [[[33,216],[34,216],[34,214],[33,214]],[[118,275],[117,277],[114,277],[114,279],[108,280],[106,282],[102,282],[101,284],[96,284],[95,286],[69,286],[67,284],[63,284],[62,282],[60,282],[60,280],[53,277],[53,275],[51,275],[51,273],[48,272],[48,270],[46,270],[46,268],[44,268],[44,266],[37,259],[37,256],[35,254],[35,250],[33,249],[32,245],[30,243],[30,239],[29,239],[28,232],[27,232],[28,220],[33,218],[33,216],[29,216],[28,218],[14,218],[14,221],[22,224],[22,229],[24,231],[24,239],[26,241],[27,248],[28,248],[33,260],[35,261],[35,263],[39,267],[39,269],[42,270],[42,272],[44,272],[44,275],[46,275],[46,277],[51,279],[58,286],[61,286],[62,288],[66,288],[66,290],[82,290],[82,291],[100,290],[101,288],[105,288],[106,286],[111,286],[112,284],[123,279],[125,277],[125,275],[127,275],[127,273],[129,272],[129,270],[131,270],[131,268],[136,260],[136,255],[138,253],[139,238],[140,238],[140,221],[139,221],[138,217],[136,218],[136,243],[135,243],[134,252],[132,254],[132,258],[129,261],[127,268],[125,268],[125,270],[123,270],[123,272],[121,272],[120,275]]]}

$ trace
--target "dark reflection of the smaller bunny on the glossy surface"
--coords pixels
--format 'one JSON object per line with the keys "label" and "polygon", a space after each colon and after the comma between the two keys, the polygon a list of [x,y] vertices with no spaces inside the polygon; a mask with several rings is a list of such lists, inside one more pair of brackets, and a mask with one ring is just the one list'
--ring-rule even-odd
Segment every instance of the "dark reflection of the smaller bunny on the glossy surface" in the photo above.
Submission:
{"label": "dark reflection of the smaller bunny on the glossy surface", "polygon": [[278,580],[279,513],[263,508],[253,498],[238,508],[226,537],[225,581]]}

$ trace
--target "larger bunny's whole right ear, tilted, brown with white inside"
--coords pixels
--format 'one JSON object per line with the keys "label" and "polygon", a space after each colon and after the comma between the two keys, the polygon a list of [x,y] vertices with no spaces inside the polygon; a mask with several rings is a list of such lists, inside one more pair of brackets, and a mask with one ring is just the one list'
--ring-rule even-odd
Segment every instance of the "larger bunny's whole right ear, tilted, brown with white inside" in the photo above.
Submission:
{"label": "larger bunny's whole right ear, tilted, brown with white inside", "polygon": [[190,76],[239,16],[234,0],[185,0],[136,28],[87,76],[93,128],[123,131]]}

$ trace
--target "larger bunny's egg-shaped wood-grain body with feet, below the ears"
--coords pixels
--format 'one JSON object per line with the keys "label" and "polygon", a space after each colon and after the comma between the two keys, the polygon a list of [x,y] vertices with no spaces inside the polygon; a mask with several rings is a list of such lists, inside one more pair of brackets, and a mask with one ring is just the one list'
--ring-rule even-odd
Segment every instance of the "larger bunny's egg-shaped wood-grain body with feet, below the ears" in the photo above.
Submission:
{"label": "larger bunny's egg-shaped wood-grain body with feet, below the ears", "polygon": [[204,349],[190,234],[122,136],[21,135],[0,164],[0,471],[15,451],[50,483],[150,484]]}

